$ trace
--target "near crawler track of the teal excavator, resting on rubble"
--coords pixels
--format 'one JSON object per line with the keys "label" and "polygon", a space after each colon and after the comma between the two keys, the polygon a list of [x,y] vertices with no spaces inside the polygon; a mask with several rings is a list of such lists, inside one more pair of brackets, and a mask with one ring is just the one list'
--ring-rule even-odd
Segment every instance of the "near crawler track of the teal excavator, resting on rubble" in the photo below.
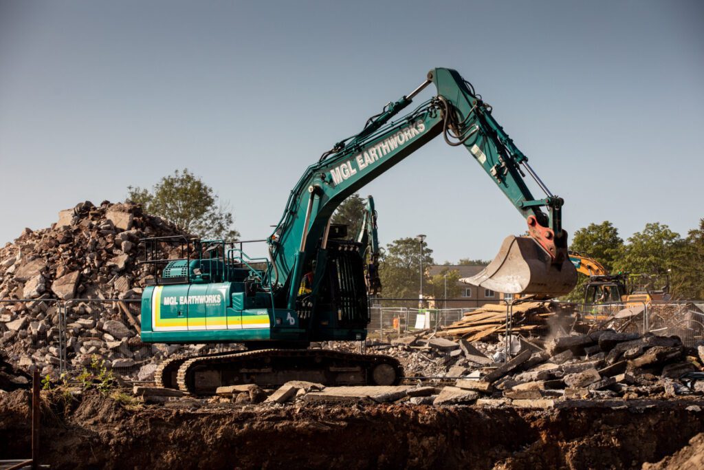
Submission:
{"label": "near crawler track of the teal excavator, resting on rubble", "polygon": [[186,359],[177,386],[191,395],[214,395],[218,387],[253,383],[266,388],[288,381],[323,385],[397,385],[403,368],[393,357],[332,350],[254,350]]}

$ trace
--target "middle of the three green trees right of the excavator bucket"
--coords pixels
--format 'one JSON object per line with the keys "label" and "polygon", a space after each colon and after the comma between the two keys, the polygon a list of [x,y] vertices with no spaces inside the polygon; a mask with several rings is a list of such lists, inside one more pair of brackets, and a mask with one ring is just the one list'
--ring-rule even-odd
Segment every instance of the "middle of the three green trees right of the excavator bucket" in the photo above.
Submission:
{"label": "middle of the three green trees right of the excavator bucket", "polygon": [[642,232],[628,239],[621,259],[614,267],[632,274],[663,275],[674,266],[674,258],[681,249],[679,233],[659,222],[646,223]]}

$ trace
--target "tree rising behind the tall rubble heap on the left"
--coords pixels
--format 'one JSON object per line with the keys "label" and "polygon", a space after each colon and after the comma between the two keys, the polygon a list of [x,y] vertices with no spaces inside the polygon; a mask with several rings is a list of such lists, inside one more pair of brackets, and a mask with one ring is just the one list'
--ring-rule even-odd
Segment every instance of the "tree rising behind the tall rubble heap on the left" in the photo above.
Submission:
{"label": "tree rising behind the tall rubble heap on the left", "polygon": [[228,204],[220,202],[213,188],[188,168],[164,176],[151,191],[128,186],[127,199],[142,204],[147,214],[166,218],[188,233],[228,241],[239,237],[232,228],[234,218]]}

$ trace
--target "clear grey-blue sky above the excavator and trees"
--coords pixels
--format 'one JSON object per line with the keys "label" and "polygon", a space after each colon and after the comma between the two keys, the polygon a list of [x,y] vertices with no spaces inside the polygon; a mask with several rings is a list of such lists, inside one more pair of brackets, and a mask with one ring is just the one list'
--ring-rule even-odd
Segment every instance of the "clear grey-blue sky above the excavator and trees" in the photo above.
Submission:
{"label": "clear grey-blue sky above the excavator and trees", "polygon": [[[265,237],[308,164],[457,69],[571,232],[704,217],[701,1],[0,0],[0,243],[187,167]],[[420,98],[431,96],[427,89]],[[382,242],[490,259],[523,219],[436,139],[362,191]]]}

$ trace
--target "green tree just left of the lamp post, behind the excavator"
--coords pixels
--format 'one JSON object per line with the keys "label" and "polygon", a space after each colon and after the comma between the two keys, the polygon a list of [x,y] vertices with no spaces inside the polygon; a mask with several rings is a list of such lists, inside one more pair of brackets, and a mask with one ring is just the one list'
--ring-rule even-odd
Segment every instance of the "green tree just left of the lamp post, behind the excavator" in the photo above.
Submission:
{"label": "green tree just left of the lamp post, behind the excavator", "polygon": [[[427,268],[434,264],[432,249],[423,242],[423,295],[430,286]],[[399,238],[386,245],[379,263],[379,277],[384,297],[417,298],[420,290],[420,242],[415,238]]]}

